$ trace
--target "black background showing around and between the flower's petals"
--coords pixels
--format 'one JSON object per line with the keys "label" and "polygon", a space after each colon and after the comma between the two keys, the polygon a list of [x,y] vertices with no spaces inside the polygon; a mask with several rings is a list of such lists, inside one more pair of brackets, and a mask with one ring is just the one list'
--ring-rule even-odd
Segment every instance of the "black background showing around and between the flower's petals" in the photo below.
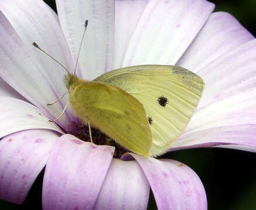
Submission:
{"label": "black background showing around and between the flower's petals", "polygon": [[[56,10],[54,0],[44,1]],[[231,13],[256,36],[256,0],[211,2],[216,4],[215,11]],[[209,210],[256,209],[256,153],[199,148],[172,152],[164,158],[179,160],[196,171],[205,186]],[[43,172],[22,206],[0,201],[0,209],[41,209]],[[152,195],[148,209],[157,209]]]}

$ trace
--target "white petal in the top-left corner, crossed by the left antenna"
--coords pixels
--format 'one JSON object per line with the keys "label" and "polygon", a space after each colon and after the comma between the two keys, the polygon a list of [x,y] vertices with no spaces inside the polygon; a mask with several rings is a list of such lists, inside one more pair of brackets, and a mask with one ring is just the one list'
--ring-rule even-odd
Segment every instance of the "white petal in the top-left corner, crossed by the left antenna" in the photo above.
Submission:
{"label": "white petal in the top-left corner, crossed by the left antenna", "polygon": [[[0,1],[0,9],[27,46],[34,48],[32,46],[34,41],[65,67],[74,68],[70,50],[56,14],[46,3],[41,0]],[[50,78],[52,76],[56,78],[60,72],[65,74],[64,69],[61,69],[55,61],[36,48],[33,50],[44,69],[48,71]]]}

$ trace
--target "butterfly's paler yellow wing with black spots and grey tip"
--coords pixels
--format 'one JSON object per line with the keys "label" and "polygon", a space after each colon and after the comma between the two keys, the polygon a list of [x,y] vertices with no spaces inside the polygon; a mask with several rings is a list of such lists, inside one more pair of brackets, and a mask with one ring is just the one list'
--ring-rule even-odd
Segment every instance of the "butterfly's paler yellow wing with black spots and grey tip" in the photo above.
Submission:
{"label": "butterfly's paler yellow wing with black spots and grey tip", "polygon": [[184,131],[204,88],[198,75],[167,65],[116,69],[94,81],[122,88],[143,104],[152,133],[151,156],[164,153]]}

